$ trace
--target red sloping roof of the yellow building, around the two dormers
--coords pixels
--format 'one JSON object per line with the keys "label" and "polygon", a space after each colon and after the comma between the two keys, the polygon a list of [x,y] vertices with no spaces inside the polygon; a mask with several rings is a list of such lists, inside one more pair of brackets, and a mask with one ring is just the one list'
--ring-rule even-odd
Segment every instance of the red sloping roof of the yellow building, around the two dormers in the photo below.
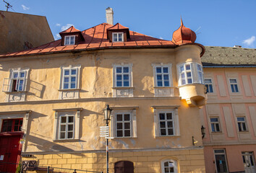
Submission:
{"label": "red sloping roof of the yellow building, around the two dormers", "polygon": [[[82,31],[82,37],[84,37],[85,40],[80,42],[78,45],[61,46],[61,40],[56,40],[46,45],[40,45],[37,48],[31,48],[29,50],[23,50],[17,53],[7,53],[4,55],[0,55],[0,58],[7,58],[12,56],[38,55],[45,53],[61,53],[77,50],[99,50],[109,48],[176,48],[178,46],[172,41],[161,40],[155,37],[150,37],[148,35],[143,35],[133,31],[129,31],[130,39],[128,39],[127,42],[109,43],[106,32],[108,29],[114,27],[119,27],[119,29],[128,29],[127,27],[123,27],[119,23],[117,23],[116,25],[102,23],[100,25],[96,25],[95,27],[91,27],[88,30]],[[76,30],[74,27],[69,27],[69,29],[64,32],[68,33],[80,31]],[[200,46],[203,49],[201,53],[202,56],[204,48],[202,45]]]}

